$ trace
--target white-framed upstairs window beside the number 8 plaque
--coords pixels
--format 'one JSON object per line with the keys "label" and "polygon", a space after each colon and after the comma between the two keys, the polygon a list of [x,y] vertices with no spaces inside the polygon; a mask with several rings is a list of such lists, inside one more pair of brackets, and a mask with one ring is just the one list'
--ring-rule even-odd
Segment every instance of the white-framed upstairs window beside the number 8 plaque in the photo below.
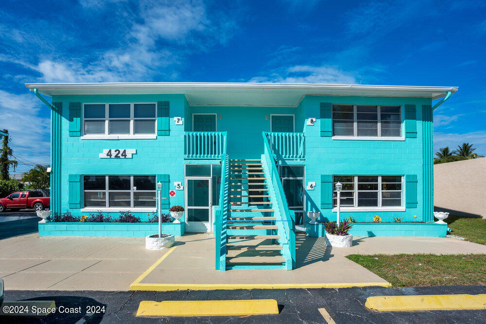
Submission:
{"label": "white-framed upstairs window beside the number 8 plaque", "polygon": [[402,137],[401,106],[333,104],[332,135]]}

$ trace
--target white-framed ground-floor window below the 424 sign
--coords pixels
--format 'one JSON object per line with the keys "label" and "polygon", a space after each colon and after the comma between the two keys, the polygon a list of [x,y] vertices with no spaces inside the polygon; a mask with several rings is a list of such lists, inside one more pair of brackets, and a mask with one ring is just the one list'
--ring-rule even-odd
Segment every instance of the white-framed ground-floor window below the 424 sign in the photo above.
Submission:
{"label": "white-framed ground-floor window below the 424 sign", "polygon": [[85,207],[156,207],[155,175],[85,175]]}

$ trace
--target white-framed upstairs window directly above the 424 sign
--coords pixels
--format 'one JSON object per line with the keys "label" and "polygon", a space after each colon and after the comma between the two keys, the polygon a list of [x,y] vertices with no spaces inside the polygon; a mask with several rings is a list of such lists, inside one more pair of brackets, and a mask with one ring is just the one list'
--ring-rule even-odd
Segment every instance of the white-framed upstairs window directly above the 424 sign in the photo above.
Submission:
{"label": "white-framed upstairs window directly above the 424 sign", "polygon": [[155,135],[156,103],[85,103],[84,135]]}

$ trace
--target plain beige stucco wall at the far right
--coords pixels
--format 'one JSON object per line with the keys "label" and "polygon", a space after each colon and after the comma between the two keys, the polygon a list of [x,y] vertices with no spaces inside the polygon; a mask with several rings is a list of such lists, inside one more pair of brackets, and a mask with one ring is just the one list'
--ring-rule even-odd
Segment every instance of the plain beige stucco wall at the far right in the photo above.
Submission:
{"label": "plain beige stucco wall at the far right", "polygon": [[434,210],[486,218],[486,158],[435,164]]}

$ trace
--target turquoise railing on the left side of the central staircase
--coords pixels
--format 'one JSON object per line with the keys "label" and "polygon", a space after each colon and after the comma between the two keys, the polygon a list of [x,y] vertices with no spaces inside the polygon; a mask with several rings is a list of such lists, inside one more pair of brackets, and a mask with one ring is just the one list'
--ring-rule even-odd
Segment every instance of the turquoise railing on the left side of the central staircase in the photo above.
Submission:
{"label": "turquoise railing on the left side of the central staircase", "polygon": [[219,205],[214,208],[214,236],[216,239],[216,270],[226,271],[226,223],[229,202],[229,157],[226,154],[226,132],[221,155],[221,184],[219,190]]}

